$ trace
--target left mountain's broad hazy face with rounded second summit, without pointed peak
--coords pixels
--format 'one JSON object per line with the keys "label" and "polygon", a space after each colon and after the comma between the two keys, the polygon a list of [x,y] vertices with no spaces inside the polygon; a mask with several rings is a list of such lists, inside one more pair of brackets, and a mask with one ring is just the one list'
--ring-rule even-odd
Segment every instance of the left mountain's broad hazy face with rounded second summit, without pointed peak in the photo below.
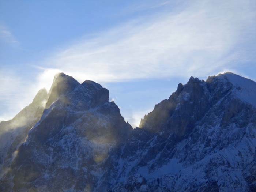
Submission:
{"label": "left mountain's broad hazy face with rounded second summit, without pointed peak", "polygon": [[109,102],[109,91],[86,80],[44,111],[19,147],[2,189],[93,190],[99,166],[131,132],[117,105]]}

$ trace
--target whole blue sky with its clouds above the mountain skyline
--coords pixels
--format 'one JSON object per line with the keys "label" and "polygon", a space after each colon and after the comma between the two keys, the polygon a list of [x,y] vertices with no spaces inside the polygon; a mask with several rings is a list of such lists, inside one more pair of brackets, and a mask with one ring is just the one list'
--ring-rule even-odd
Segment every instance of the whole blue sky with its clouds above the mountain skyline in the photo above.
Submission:
{"label": "whole blue sky with its clouds above the mountain skyline", "polygon": [[0,1],[0,120],[56,72],[110,91],[133,126],[178,83],[256,80],[256,1]]}

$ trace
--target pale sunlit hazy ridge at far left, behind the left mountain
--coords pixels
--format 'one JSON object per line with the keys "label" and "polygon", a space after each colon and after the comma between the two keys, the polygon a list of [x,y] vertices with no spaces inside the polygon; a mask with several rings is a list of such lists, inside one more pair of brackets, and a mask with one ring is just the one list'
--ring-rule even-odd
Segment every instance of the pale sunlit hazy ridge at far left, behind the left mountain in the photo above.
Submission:
{"label": "pale sunlit hazy ridge at far left, behind the left mountain", "polygon": [[30,105],[26,106],[12,120],[0,123],[0,170],[9,166],[12,160],[11,154],[24,142],[29,129],[41,118],[47,97],[46,89],[39,90]]}

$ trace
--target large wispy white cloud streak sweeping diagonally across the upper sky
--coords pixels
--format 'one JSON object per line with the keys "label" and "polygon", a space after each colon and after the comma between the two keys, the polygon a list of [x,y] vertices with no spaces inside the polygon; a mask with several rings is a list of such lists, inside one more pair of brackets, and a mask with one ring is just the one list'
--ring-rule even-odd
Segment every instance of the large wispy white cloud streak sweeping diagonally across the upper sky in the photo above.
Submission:
{"label": "large wispy white cloud streak sweeping diagonally across the upper sky", "polygon": [[93,39],[80,39],[45,63],[80,81],[112,82],[207,76],[248,60],[251,52],[243,44],[256,42],[255,5],[250,1],[194,2],[179,12],[139,18]]}

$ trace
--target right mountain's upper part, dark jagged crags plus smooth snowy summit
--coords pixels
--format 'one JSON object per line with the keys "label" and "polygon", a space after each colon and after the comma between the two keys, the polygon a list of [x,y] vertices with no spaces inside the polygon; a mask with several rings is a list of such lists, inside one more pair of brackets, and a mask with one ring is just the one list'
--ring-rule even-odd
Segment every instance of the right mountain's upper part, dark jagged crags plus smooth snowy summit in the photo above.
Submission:
{"label": "right mountain's upper part, dark jagged crags plus smooth snowy summit", "polygon": [[168,100],[155,105],[154,110],[143,118],[139,127],[153,132],[169,129],[177,131],[178,134],[187,134],[193,123],[230,91],[232,98],[256,106],[255,90],[255,82],[231,72],[210,76],[206,82],[191,77],[187,84],[178,84],[177,91]]}

